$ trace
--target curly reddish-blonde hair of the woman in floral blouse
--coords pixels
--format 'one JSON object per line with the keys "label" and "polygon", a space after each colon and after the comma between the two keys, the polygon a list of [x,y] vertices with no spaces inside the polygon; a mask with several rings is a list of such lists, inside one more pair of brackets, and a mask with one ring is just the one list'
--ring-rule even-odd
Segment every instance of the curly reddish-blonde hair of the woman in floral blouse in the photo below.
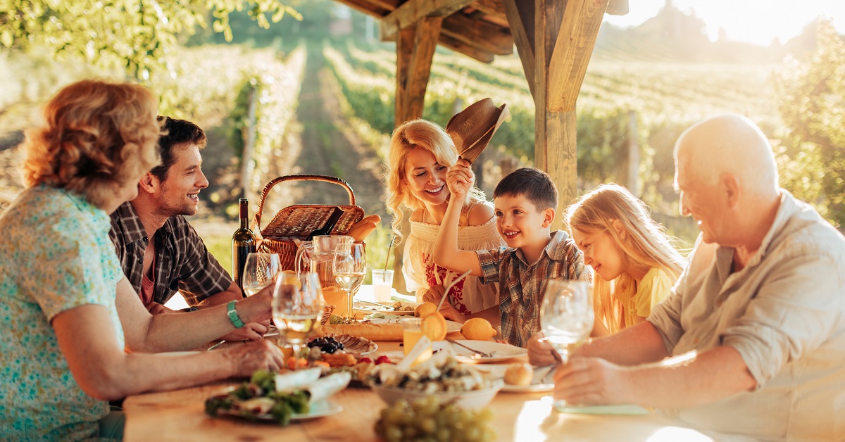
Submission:
{"label": "curly reddish-blonde hair of the woman in floral blouse", "polygon": [[26,187],[46,184],[101,207],[115,188],[159,162],[158,100],[143,86],[85,79],[47,102],[44,123],[26,132]]}

